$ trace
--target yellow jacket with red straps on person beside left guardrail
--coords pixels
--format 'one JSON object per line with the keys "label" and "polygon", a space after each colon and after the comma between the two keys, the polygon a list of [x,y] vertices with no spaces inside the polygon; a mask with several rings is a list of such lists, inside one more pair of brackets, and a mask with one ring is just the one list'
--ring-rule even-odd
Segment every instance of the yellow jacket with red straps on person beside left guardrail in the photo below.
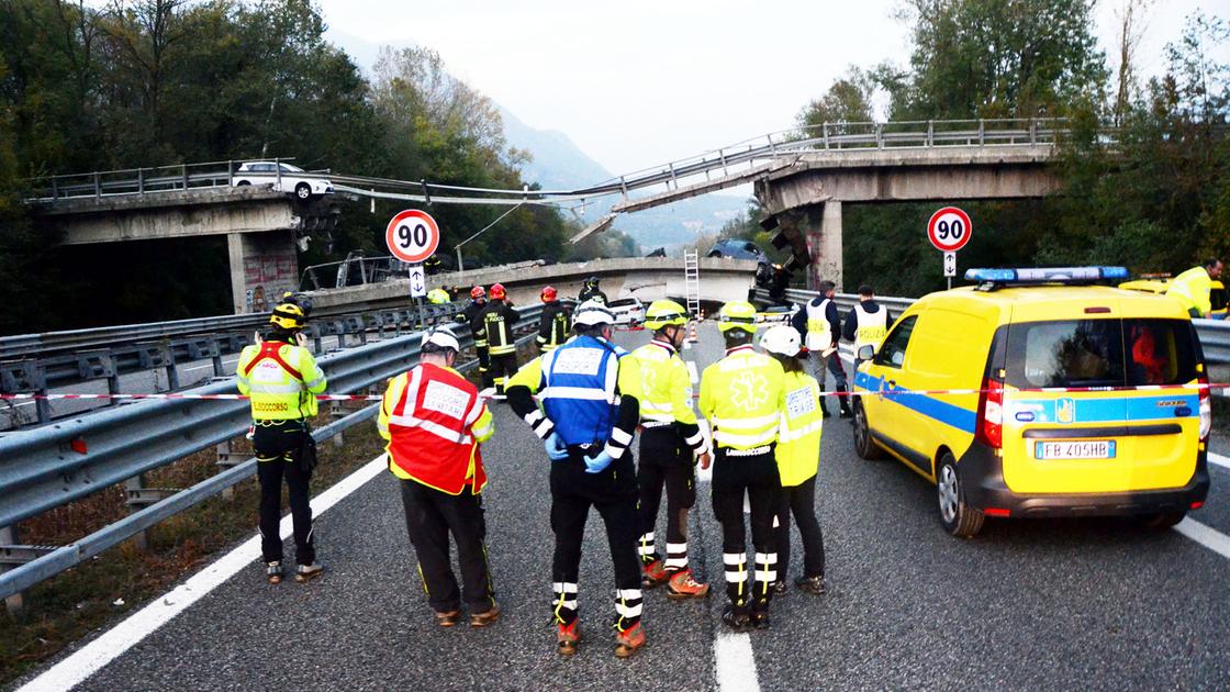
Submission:
{"label": "yellow jacket with red straps on person beside left guardrail", "polygon": [[325,392],[325,373],[300,346],[266,341],[245,346],[235,368],[240,394],[251,396],[253,420],[299,420],[315,416],[316,394]]}

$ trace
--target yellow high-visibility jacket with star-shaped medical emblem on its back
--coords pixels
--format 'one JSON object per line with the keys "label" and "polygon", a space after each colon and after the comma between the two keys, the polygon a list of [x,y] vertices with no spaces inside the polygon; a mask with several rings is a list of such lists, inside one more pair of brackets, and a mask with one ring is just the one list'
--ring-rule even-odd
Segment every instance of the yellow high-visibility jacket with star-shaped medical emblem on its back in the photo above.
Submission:
{"label": "yellow high-visibility jacket with star-shaped medical emblem on its back", "polygon": [[700,412],[717,447],[750,449],[777,440],[781,363],[752,346],[731,348],[700,378]]}

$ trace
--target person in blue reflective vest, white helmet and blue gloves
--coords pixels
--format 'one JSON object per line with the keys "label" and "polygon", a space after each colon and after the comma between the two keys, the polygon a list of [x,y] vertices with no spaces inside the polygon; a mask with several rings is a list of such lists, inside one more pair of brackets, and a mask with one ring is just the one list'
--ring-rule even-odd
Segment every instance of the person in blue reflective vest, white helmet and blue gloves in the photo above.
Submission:
{"label": "person in blue reflective vest, white helmet and blue gloves", "polygon": [[581,642],[577,580],[590,507],[606,526],[615,566],[615,655],[629,658],[646,642],[630,449],[640,421],[641,371],[611,344],[614,324],[606,305],[582,303],[573,313],[576,337],[526,363],[507,388],[513,411],[545,441],[551,459],[552,612],[557,651],[565,656]]}

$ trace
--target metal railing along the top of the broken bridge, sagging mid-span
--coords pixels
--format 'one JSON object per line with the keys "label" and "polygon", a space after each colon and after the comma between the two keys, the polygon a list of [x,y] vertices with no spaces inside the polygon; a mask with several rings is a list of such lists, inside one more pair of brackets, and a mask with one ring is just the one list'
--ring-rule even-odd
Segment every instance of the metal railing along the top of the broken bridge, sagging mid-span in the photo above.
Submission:
{"label": "metal railing along the top of the broken bridge, sagging mid-span", "polygon": [[[729,175],[731,167],[742,164],[795,156],[806,151],[1053,145],[1061,142],[1068,132],[1069,122],[1065,118],[823,123],[769,133],[577,190],[530,191],[525,187],[522,190],[488,190],[331,172],[296,172],[294,176],[327,179],[335,183],[338,191],[373,197],[391,196],[430,202],[434,196],[437,201],[442,202],[510,203],[522,201],[538,203],[545,199],[583,199],[615,193],[626,196],[630,191],[662,183],[678,187],[681,179],[697,175],[707,176],[716,171]],[[1116,128],[1102,128],[1098,131],[1098,138],[1106,144],[1113,144],[1117,140],[1117,133]],[[114,196],[230,187],[235,177],[232,171],[242,161],[178,164],[153,169],[95,171],[34,179],[31,181],[33,197],[27,202],[55,203],[75,197],[101,199]],[[389,190],[405,193],[384,192]],[[450,193],[462,193],[465,197],[445,197]]]}

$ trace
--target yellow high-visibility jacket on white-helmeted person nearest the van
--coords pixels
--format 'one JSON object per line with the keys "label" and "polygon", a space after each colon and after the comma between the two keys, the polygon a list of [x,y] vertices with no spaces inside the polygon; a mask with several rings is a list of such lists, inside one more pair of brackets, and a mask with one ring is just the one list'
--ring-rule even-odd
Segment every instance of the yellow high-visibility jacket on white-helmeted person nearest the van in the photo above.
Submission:
{"label": "yellow high-visibility jacket on white-helmeted person nearest the van", "polygon": [[781,484],[793,486],[815,475],[819,468],[824,412],[820,385],[814,377],[788,372],[784,384],[775,453]]}

